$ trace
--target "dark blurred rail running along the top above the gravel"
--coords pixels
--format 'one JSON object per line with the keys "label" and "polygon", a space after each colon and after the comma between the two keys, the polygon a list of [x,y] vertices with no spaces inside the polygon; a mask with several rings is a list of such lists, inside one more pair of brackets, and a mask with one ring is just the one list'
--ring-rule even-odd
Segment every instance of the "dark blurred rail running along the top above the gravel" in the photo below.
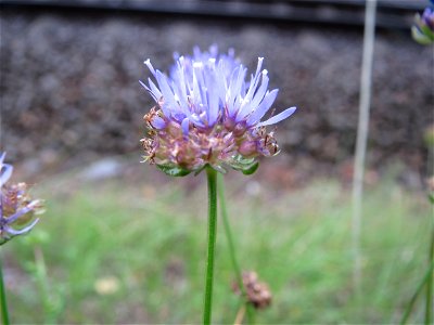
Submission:
{"label": "dark blurred rail running along the top above the gravel", "polygon": [[[361,27],[365,0],[0,0],[0,8],[80,10],[214,16]],[[404,29],[426,0],[382,0],[378,4],[380,28]]]}

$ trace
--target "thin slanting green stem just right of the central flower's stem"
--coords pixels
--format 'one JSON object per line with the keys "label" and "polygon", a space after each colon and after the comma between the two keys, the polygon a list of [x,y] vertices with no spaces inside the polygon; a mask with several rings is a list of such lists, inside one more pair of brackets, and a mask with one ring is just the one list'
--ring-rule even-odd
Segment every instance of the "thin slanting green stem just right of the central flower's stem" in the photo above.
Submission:
{"label": "thin slanting green stem just right of the central flower's stem", "polygon": [[[232,236],[231,226],[230,226],[229,218],[228,218],[228,210],[226,207],[225,181],[224,181],[222,174],[218,176],[218,199],[220,202],[221,217],[224,219],[225,234],[226,234],[226,238],[228,239],[229,256],[230,256],[230,259],[232,262],[233,272],[235,273],[238,286],[241,290],[243,299],[246,299],[247,295],[245,292],[245,287],[244,287],[244,283],[243,283],[243,276],[241,273],[240,264],[238,263],[238,260],[237,260],[235,245],[233,243],[233,236]],[[245,304],[246,304],[248,324],[254,324],[255,315],[254,315],[253,307],[247,301],[245,301]]]}

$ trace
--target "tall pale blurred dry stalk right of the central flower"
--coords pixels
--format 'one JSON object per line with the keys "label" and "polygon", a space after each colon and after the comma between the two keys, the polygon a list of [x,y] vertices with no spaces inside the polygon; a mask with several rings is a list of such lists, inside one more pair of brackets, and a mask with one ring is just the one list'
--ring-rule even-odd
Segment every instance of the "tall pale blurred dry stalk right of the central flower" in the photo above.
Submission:
{"label": "tall pale blurred dry stalk right of the central flower", "polygon": [[368,142],[369,109],[371,101],[373,43],[375,38],[376,0],[367,0],[365,10],[363,54],[360,75],[359,118],[357,127],[356,155],[354,159],[353,179],[353,282],[356,300],[360,298],[361,283],[361,203],[363,194],[363,168]]}

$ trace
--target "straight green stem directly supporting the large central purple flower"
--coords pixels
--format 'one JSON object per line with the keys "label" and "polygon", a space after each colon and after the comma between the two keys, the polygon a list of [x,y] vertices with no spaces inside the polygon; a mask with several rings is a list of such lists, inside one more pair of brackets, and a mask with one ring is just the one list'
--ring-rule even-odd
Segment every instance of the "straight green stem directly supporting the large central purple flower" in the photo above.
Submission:
{"label": "straight green stem directly supporting the large central purple flower", "polygon": [[213,280],[214,280],[214,252],[216,246],[217,231],[217,171],[213,168],[206,168],[208,180],[208,247],[206,259],[206,278],[205,278],[205,302],[203,324],[209,325],[212,320],[213,304]]}

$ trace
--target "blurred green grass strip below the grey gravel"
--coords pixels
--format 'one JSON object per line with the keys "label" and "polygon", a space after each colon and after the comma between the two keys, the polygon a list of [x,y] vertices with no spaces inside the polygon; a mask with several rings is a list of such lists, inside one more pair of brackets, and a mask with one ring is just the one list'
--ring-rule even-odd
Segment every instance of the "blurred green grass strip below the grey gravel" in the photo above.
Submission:
{"label": "blurred green grass strip below the grey gravel", "polygon": [[[139,176],[146,182],[146,176]],[[47,213],[25,238],[4,246],[13,323],[200,323],[206,184],[188,180],[80,183],[62,177],[38,184]],[[367,188],[362,223],[362,295],[352,289],[350,195],[334,181],[248,196],[230,173],[229,214],[240,264],[273,294],[259,324],[397,323],[426,268],[432,210],[422,193],[383,181]],[[234,180],[233,180],[234,179]],[[233,324],[238,299],[221,220],[217,234],[214,322]],[[49,294],[42,299],[35,242],[42,240]],[[95,283],[118,281],[112,294]],[[422,297],[421,297],[422,298]],[[44,301],[46,300],[46,301]],[[48,301],[47,301],[48,300]],[[422,322],[423,299],[411,322]]]}

